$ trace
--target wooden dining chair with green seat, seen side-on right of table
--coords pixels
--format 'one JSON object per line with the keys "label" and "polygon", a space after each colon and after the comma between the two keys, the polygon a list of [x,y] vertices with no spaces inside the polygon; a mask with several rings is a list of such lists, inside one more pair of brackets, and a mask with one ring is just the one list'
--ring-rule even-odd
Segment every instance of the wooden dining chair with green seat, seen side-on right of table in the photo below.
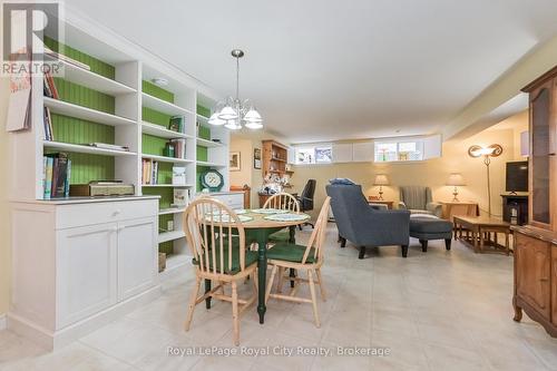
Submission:
{"label": "wooden dining chair with green seat, seen side-on right of table", "polygon": [[[323,265],[323,244],[325,240],[326,221],[329,217],[330,205],[331,197],[326,197],[323,206],[321,207],[321,212],[319,213],[317,222],[315,223],[315,230],[313,230],[313,233],[306,246],[290,243],[278,243],[267,251],[267,263],[273,265],[273,271],[271,273],[271,279],[268,281],[267,290],[265,293],[265,302],[268,301],[268,297],[275,297],[297,303],[312,303],[313,316],[315,319],[315,325],[317,328],[321,326],[321,322],[319,318],[317,301],[315,295],[315,284],[319,284],[321,299],[325,301],[325,287],[323,284],[323,275],[321,274],[321,266]],[[285,277],[284,271],[287,269],[294,269],[297,270],[297,272],[306,271],[307,279],[301,279],[300,276]],[[278,273],[276,293],[271,293],[276,273]],[[296,284],[294,287],[292,287],[290,294],[282,294],[282,285],[284,279],[309,283],[311,299],[296,296],[300,284]]]}

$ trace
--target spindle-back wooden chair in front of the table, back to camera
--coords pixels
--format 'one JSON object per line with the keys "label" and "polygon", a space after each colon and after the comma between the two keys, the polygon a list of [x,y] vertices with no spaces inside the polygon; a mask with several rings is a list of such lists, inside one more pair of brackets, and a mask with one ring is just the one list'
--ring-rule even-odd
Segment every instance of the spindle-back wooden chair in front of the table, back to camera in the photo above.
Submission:
{"label": "spindle-back wooden chair in front of the table, back to camera", "polygon": [[[185,330],[189,330],[195,306],[214,297],[232,302],[234,344],[240,344],[240,315],[257,297],[256,280],[254,294],[238,299],[237,282],[255,272],[257,253],[245,248],[245,231],[238,216],[225,204],[209,197],[201,197],[184,212],[184,231],[194,256],[195,286],[189,300]],[[213,289],[199,295],[203,280],[211,280]],[[226,295],[224,287],[232,286]]]}

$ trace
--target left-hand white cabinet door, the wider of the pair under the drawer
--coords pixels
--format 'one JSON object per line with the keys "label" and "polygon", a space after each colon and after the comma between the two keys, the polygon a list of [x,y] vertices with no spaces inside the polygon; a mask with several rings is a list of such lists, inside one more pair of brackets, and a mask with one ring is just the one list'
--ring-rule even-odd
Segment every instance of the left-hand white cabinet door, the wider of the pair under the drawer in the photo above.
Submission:
{"label": "left-hand white cabinet door, the wider of the pair under the drawer", "polygon": [[57,240],[56,328],[61,329],[116,303],[117,224],[59,231]]}

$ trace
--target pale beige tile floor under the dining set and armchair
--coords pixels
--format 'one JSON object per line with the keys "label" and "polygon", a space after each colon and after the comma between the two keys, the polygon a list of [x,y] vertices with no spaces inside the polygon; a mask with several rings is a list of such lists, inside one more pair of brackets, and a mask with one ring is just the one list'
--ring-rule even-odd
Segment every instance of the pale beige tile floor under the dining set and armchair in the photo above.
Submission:
{"label": "pale beige tile floor under the dining set and armchair", "polygon": [[326,246],[321,329],[311,305],[271,301],[265,325],[255,306],[246,311],[242,346],[377,346],[389,355],[169,357],[168,346],[233,349],[228,303],[198,305],[192,330],[182,330],[194,282],[188,267],[164,282],[160,299],[55,353],[0,332],[0,370],[557,370],[557,339],[526,315],[511,320],[512,257],[477,255],[456,242],[450,252],[433,242],[423,254],[412,241],[405,260],[394,247],[358,260],[353,246],[338,246],[334,226]]}

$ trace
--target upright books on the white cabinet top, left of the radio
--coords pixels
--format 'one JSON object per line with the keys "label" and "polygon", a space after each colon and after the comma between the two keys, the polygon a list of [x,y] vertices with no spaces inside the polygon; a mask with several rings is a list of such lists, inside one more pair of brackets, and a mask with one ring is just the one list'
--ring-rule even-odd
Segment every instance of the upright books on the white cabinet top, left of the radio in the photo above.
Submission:
{"label": "upright books on the white cabinet top, left of the radio", "polygon": [[68,154],[48,154],[42,157],[43,198],[69,197],[71,159]]}

